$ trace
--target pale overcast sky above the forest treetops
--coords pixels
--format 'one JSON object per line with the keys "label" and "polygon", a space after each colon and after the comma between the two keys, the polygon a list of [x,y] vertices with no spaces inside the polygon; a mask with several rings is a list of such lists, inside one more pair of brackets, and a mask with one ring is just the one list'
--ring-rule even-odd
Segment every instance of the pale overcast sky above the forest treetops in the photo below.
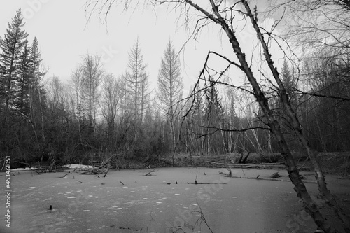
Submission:
{"label": "pale overcast sky above the forest treetops", "polygon": [[[43,63],[49,68],[48,77],[55,75],[61,80],[69,80],[71,71],[87,52],[102,56],[104,69],[120,76],[127,68],[128,52],[139,36],[149,79],[155,86],[160,59],[169,39],[176,50],[180,50],[190,36],[190,31],[182,26],[182,20],[176,24],[180,12],[166,7],[156,8],[156,12],[141,7],[133,13],[112,8],[106,24],[97,14],[87,22],[85,0],[1,0],[1,37],[6,32],[7,22],[19,8],[25,17],[29,43],[34,36],[38,39]],[[273,22],[266,21],[266,24]],[[191,39],[185,52],[181,53],[187,90],[195,83],[209,50],[233,57],[227,38],[223,36],[221,40],[217,32],[216,27],[210,26],[202,31],[197,42]],[[255,38],[254,34],[248,30],[239,36],[243,48],[250,53],[252,45],[249,41]]]}

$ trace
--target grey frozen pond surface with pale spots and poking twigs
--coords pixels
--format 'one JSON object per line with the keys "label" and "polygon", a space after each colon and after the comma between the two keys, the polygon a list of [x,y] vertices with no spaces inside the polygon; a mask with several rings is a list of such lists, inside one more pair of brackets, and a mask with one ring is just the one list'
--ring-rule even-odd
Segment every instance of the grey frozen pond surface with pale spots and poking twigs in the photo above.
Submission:
{"label": "grey frozen pond surface with pale spots and poking twigs", "polygon": [[[226,178],[210,168],[110,171],[107,177],[76,172],[12,176],[11,228],[0,232],[313,232],[293,185],[283,181]],[[274,170],[232,169],[233,175],[268,178]],[[288,180],[286,171],[279,171]],[[197,176],[197,183],[194,184]],[[313,176],[304,172],[307,180]],[[1,190],[4,173],[0,174]],[[307,183],[311,195],[317,185]],[[333,178],[330,190],[349,193],[349,180]],[[49,210],[50,205],[52,211]],[[181,229],[180,229],[181,228]]]}

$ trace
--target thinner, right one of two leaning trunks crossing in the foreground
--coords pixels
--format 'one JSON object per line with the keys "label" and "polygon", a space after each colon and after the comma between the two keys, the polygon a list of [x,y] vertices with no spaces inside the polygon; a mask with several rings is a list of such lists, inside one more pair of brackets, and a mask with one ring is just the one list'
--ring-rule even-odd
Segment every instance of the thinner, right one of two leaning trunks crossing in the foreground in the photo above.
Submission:
{"label": "thinner, right one of two leaning trunks crossing in the foreground", "polygon": [[344,230],[346,230],[346,232],[350,232],[349,217],[346,216],[346,213],[342,210],[342,208],[340,208],[340,206],[337,204],[335,197],[331,195],[330,191],[327,188],[327,185],[325,183],[325,177],[323,176],[321,166],[317,160],[317,153],[316,151],[312,150],[309,146],[309,141],[307,141],[302,132],[300,121],[297,119],[297,115],[295,115],[295,112],[293,111],[290,105],[286,88],[284,87],[281,78],[279,78],[279,72],[277,71],[276,67],[274,67],[274,62],[272,61],[271,55],[269,53],[269,48],[267,47],[267,44],[265,43],[260,28],[258,26],[258,20],[251,13],[251,9],[249,8],[248,3],[246,1],[242,2],[246,7],[247,15],[248,17],[250,17],[253,27],[258,35],[260,44],[262,45],[262,49],[264,50],[265,59],[267,61],[269,69],[272,71],[274,79],[276,80],[276,83],[279,86],[281,102],[283,104],[283,107],[286,109],[288,116],[290,117],[290,120],[292,122],[291,125],[293,125],[293,130],[300,142],[302,143],[302,146],[304,146],[304,148],[307,150],[307,155],[309,156],[311,164],[314,167],[316,181],[318,183],[318,190],[321,192],[321,195],[323,195],[323,197],[325,198],[328,206],[330,206],[330,208],[337,214],[339,219],[342,220]]}

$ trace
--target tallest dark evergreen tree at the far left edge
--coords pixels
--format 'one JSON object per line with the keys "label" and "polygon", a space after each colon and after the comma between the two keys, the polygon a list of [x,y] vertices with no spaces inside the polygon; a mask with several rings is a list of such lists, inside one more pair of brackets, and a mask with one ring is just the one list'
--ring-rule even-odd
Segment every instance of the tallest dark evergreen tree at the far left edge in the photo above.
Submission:
{"label": "tallest dark evergreen tree at the far left edge", "polygon": [[27,33],[22,29],[24,25],[22,12],[18,10],[12,22],[8,22],[4,38],[0,38],[1,98],[5,99],[6,108],[13,101],[13,95],[18,88],[18,69],[22,50],[27,43]]}

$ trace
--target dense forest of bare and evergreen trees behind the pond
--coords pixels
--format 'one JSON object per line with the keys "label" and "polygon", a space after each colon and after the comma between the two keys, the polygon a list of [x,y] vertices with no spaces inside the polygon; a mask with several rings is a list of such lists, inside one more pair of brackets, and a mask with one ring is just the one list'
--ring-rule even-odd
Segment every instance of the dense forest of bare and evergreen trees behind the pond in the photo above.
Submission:
{"label": "dense forest of bare and evergreen trees behind the pond", "polygon": [[[0,37],[1,160],[10,155],[13,164],[25,166],[113,156],[123,167],[132,160],[155,164],[174,153],[280,150],[248,85],[235,88],[230,77],[223,82],[222,73],[203,69],[192,91],[183,93],[181,60],[172,41],[161,57],[158,85],[151,87],[139,38],[124,73],[107,73],[101,57],[85,54],[63,81],[47,76],[40,38],[27,37],[18,10]],[[302,62],[286,57],[279,69],[293,111],[318,151],[350,150],[348,51],[344,43],[304,52]],[[276,84],[261,82],[290,150],[304,153]]]}

